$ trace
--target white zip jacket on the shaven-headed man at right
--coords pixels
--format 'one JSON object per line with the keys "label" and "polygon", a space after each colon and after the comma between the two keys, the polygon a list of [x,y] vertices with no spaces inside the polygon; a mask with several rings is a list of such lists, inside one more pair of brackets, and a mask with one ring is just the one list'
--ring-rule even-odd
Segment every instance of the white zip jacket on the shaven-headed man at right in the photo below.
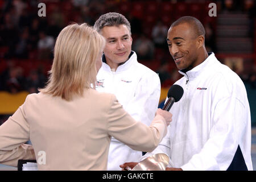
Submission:
{"label": "white zip jacket on the shaven-headed man at right", "polygon": [[239,145],[244,165],[253,170],[250,108],[240,77],[214,53],[191,71],[179,72],[184,77],[175,84],[182,86],[184,94],[170,110],[173,117],[168,133],[142,159],[164,152],[172,167],[226,170]]}

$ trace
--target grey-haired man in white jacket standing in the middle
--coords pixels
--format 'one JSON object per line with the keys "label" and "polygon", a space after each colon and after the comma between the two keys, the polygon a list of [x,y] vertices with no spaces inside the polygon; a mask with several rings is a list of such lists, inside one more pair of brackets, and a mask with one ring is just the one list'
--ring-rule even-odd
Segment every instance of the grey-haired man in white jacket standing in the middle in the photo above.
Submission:
{"label": "grey-haired man in white jacket standing in the middle", "polygon": [[[131,51],[133,39],[129,21],[121,14],[107,13],[100,16],[94,28],[106,39],[96,89],[115,94],[134,119],[150,125],[158,108],[160,79],[151,69],[138,63],[136,53]],[[142,152],[112,138],[108,170],[121,170],[120,164],[139,160],[141,156]]]}

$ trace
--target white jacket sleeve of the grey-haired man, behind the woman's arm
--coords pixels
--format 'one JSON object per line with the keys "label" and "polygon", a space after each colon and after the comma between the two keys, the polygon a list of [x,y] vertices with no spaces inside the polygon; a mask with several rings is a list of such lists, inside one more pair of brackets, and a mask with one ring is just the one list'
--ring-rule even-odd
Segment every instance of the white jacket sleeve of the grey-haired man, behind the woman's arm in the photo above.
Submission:
{"label": "white jacket sleeve of the grey-haired man, behind the woman's arm", "polygon": [[158,109],[161,86],[159,76],[144,75],[137,85],[133,99],[126,106],[126,110],[137,121],[150,125]]}

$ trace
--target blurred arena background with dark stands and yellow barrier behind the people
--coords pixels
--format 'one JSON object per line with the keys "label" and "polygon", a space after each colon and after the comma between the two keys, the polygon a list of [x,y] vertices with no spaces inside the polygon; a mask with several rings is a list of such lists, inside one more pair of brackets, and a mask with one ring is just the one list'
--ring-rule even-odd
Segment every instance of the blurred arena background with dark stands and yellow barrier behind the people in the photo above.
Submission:
{"label": "blurred arena background with dark stands and yellow barrier behind the people", "polygon": [[[214,12],[210,3],[216,5],[216,16],[210,16]],[[93,26],[108,12],[126,16],[139,62],[159,73],[160,107],[170,86],[181,77],[168,52],[168,28],[175,19],[191,15],[204,24],[207,50],[233,69],[246,86],[256,168],[255,1],[0,0],[0,9],[0,125],[27,94],[37,93],[45,85],[60,30],[71,22]],[[16,168],[0,164],[0,169]]]}

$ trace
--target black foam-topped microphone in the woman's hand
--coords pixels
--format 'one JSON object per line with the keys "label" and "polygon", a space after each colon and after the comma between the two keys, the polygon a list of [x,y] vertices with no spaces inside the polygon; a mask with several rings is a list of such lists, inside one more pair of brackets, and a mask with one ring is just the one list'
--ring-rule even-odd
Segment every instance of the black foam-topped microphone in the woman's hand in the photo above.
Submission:
{"label": "black foam-topped microphone in the woman's hand", "polygon": [[174,102],[177,102],[180,100],[180,98],[183,96],[184,90],[180,85],[172,85],[171,88],[168,90],[168,100],[166,104],[163,106],[163,110],[170,111],[172,105]]}

